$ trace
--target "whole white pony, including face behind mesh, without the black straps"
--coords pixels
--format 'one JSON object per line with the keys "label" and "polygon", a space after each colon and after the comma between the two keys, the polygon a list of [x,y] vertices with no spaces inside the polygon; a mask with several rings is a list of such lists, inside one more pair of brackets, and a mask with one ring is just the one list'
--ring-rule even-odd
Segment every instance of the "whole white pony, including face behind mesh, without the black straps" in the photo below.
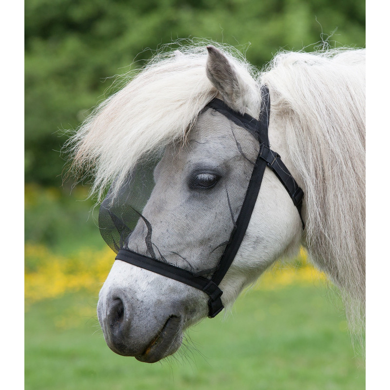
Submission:
{"label": "whole white pony, including face behind mesh, without the black straps", "polygon": [[[215,42],[159,53],[70,138],[74,172],[94,176],[91,194],[98,202],[111,186],[112,204],[136,167],[158,152],[160,162],[150,163],[154,188],[141,189],[149,200],[137,212],[131,236],[142,235],[145,248],[139,249],[139,240],[134,244],[139,252],[167,262],[169,242],[178,248],[175,264],[183,259],[181,268],[192,269],[188,248],[210,252],[221,235],[215,226],[237,214],[234,200],[220,197],[218,183],[250,175],[257,153],[249,137],[233,139],[231,122],[205,107],[216,98],[238,117],[259,118],[265,86],[270,148],[304,197],[297,213],[281,181],[265,168],[242,242],[218,286],[222,307],[231,308],[277,259],[291,258],[303,246],[339,288],[357,334],[365,322],[364,49],[281,51],[261,71],[234,47]],[[205,164],[213,168],[197,170],[191,187],[183,167]],[[167,225],[172,218],[175,223]],[[112,351],[153,363],[175,353],[183,332],[209,314],[208,298],[187,283],[117,259],[99,292],[98,320]]]}

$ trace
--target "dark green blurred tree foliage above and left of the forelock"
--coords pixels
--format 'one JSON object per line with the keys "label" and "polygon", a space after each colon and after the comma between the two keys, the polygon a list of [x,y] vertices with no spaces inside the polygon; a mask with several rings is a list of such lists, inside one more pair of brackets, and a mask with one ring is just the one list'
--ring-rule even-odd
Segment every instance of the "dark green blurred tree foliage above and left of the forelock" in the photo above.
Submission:
{"label": "dark green blurred tree foliage above and left of the forelock", "polygon": [[139,66],[161,44],[189,37],[241,46],[257,67],[280,48],[313,50],[319,41],[364,47],[365,2],[27,1],[26,181],[60,185],[61,130],[77,128],[91,107],[115,91],[113,76]]}

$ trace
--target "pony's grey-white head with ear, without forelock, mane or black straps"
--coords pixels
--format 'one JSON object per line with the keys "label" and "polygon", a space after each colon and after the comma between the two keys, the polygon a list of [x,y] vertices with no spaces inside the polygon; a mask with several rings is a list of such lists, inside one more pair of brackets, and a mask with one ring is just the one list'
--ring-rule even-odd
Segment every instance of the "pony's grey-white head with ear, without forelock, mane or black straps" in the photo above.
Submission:
{"label": "pony's grey-white head with ear, without forelock, mane or black straps", "polygon": [[[254,80],[241,77],[215,47],[208,51],[205,71],[217,96],[235,112],[258,113]],[[254,137],[224,115],[200,113],[186,142],[168,145],[153,167],[153,190],[143,207],[138,201],[126,249],[196,276],[212,274],[234,230],[258,149]],[[231,306],[301,234],[291,199],[276,176],[265,172],[240,249],[219,285],[223,306]],[[145,362],[174,353],[185,329],[208,311],[205,292],[122,260],[115,261],[99,293],[98,318],[108,346]]]}

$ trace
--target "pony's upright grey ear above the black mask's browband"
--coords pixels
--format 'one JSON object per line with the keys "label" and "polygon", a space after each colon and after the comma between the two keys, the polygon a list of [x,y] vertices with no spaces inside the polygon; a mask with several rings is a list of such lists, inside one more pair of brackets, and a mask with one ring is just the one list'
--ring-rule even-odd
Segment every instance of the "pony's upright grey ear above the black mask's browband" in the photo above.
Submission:
{"label": "pony's upright grey ear above the black mask's browband", "polygon": [[235,70],[234,64],[220,50],[210,45],[207,46],[207,51],[207,78],[228,106],[244,114],[248,86]]}

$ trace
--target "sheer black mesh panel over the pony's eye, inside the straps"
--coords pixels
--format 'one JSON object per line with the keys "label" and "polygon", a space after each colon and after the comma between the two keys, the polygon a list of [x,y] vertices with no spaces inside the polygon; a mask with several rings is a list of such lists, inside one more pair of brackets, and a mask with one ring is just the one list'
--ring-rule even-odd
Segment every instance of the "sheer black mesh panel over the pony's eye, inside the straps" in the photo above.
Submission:
{"label": "sheer black mesh panel over the pony's eye, inside the straps", "polygon": [[259,153],[254,125],[206,106],[184,144],[139,161],[99,229],[128,251],[211,279],[231,240]]}

